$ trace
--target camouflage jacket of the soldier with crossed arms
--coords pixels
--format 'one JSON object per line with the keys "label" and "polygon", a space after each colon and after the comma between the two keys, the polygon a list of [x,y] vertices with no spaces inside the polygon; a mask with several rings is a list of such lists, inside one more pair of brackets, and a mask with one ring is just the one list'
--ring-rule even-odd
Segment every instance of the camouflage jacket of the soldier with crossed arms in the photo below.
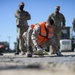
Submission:
{"label": "camouflage jacket of the soldier with crossed arms", "polygon": [[16,25],[19,25],[20,27],[28,26],[27,20],[31,19],[31,16],[27,11],[21,11],[19,9],[16,10],[15,17],[17,18]]}

